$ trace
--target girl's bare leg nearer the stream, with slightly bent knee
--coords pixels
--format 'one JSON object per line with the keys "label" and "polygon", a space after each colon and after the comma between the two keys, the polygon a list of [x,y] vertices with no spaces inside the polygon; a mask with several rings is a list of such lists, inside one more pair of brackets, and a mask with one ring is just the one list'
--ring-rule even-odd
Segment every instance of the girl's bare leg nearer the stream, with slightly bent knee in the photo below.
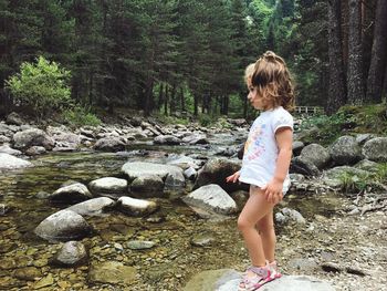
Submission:
{"label": "girl's bare leg nearer the stream, with slightly bent knee", "polygon": [[[251,263],[255,267],[264,267],[266,258],[255,225],[266,215],[272,214],[274,205],[268,202],[263,193],[257,187],[250,187],[250,198],[238,218],[238,228],[243,236]],[[268,240],[264,241],[265,243],[269,242]]]}

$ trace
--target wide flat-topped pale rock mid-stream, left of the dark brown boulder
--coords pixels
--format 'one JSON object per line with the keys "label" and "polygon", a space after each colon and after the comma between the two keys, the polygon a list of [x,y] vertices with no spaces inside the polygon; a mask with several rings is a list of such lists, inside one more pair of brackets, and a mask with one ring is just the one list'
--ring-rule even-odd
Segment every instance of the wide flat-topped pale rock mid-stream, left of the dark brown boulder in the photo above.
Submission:
{"label": "wide flat-topped pale rock mid-stream, left of the dark brown boulder", "polygon": [[186,179],[182,169],[177,166],[144,162],[128,162],[122,167],[122,173],[129,181],[140,176],[156,175],[164,180],[165,190],[176,190],[185,187]]}

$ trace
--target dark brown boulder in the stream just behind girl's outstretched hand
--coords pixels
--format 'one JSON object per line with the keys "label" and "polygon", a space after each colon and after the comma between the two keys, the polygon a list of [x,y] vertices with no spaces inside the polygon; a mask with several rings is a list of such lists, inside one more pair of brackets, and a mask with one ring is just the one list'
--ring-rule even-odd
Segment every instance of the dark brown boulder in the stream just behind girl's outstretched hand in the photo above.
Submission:
{"label": "dark brown boulder in the stream just behind girl's outstretched hand", "polygon": [[199,170],[194,189],[209,184],[217,184],[227,193],[232,193],[243,188],[238,183],[226,183],[226,178],[237,170],[240,170],[241,163],[228,158],[212,158]]}

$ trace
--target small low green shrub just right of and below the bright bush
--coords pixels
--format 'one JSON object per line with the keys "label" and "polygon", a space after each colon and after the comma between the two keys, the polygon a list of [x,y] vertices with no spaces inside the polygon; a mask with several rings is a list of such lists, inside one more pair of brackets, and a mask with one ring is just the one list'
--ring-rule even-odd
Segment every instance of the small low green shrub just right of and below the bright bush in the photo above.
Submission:
{"label": "small low green shrub just right of and below the bright bush", "polygon": [[74,127],[83,125],[97,126],[101,124],[101,119],[93,114],[90,108],[82,106],[74,106],[65,110],[62,116],[64,121]]}

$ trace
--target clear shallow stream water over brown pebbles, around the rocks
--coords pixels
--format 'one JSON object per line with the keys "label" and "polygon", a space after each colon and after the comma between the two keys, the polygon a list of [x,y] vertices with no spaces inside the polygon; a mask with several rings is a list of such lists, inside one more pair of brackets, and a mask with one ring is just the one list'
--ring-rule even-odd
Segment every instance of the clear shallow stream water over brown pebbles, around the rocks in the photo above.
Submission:
{"label": "clear shallow stream water over brown pebbles, around the rocks", "polygon": [[[49,259],[55,253],[59,245],[39,239],[33,229],[44,218],[65,206],[49,204],[42,198],[44,197],[42,193],[52,193],[69,180],[87,185],[96,178],[119,176],[122,165],[128,160],[163,163],[168,158],[167,153],[200,155],[206,153],[207,156],[215,150],[207,146],[156,148],[143,144],[134,145],[128,152],[116,154],[50,153],[32,159],[34,164],[32,168],[2,173],[0,202],[11,207],[11,211],[0,216],[0,253],[3,261],[0,266],[0,289],[34,289],[34,279],[24,280],[15,276],[17,269],[27,267],[38,270],[39,278],[53,276],[53,283],[42,290],[67,290],[60,287],[62,281],[71,282],[74,290],[103,289],[104,284],[88,280],[88,266],[70,268],[69,271],[50,264]],[[184,193],[171,197],[181,195]],[[165,290],[178,290],[189,276],[198,270],[238,268],[244,263],[241,257],[245,258],[245,251],[236,229],[236,217],[217,222],[206,221],[177,198],[157,199],[157,201],[161,205],[161,209],[155,216],[165,220],[160,224],[127,217],[119,212],[86,218],[95,229],[92,237],[82,240],[90,250],[90,262],[113,260],[135,267],[139,279],[136,279],[127,290],[154,290],[160,284],[166,288]],[[316,214],[330,216],[338,204],[339,198],[335,195],[289,194],[283,206],[300,210],[307,218]],[[279,229],[279,231],[285,230]],[[208,247],[192,247],[190,240],[197,235],[208,235],[215,242]],[[127,249],[125,245],[132,239],[153,240],[157,245],[150,250],[134,251]],[[119,243],[124,250],[116,249],[114,243]],[[25,259],[27,257],[33,261]],[[67,272],[74,276],[71,277]],[[178,288],[169,289],[166,287],[169,284]],[[104,290],[114,289],[109,285]]]}

